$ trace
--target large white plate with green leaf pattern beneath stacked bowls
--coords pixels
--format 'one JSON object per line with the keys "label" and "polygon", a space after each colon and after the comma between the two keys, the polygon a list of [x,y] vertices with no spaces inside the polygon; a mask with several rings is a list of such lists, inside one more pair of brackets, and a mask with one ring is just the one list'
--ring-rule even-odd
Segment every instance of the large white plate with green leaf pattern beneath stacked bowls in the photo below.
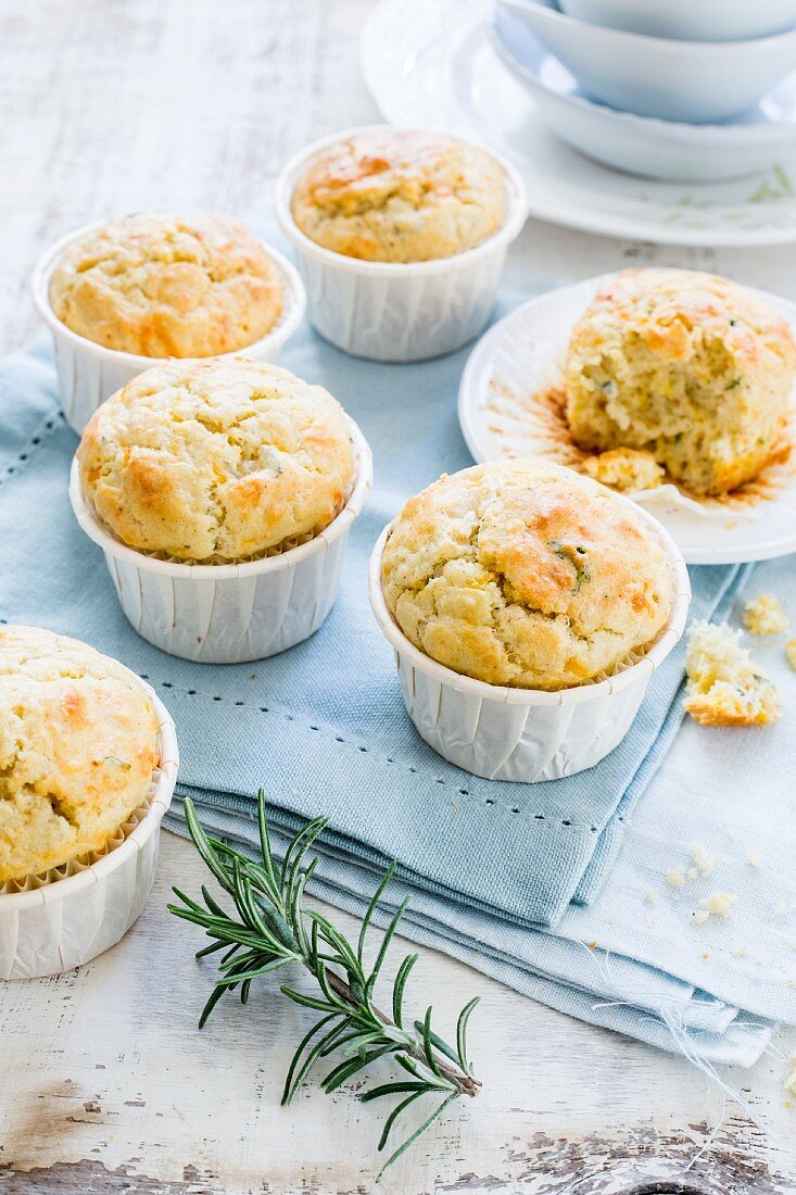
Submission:
{"label": "large white plate with green leaf pattern beneath stacked bowls", "polygon": [[[381,0],[362,30],[365,80],[384,117],[443,128],[510,158],[539,220],[660,245],[796,241],[796,151],[725,183],[662,183],[564,145],[485,32],[491,0]],[[767,98],[766,98],[767,103]]]}

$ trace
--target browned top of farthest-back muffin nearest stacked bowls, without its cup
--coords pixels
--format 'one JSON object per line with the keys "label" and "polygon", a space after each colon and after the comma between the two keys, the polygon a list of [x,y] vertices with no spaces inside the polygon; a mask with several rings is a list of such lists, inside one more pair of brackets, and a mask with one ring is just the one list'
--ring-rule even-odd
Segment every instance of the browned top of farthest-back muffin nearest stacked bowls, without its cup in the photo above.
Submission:
{"label": "browned top of farthest-back muffin nearest stacked bowls, without its cup", "polygon": [[292,197],[305,237],[366,262],[452,257],[492,237],[506,212],[506,172],[486,151],[387,128],[323,149]]}

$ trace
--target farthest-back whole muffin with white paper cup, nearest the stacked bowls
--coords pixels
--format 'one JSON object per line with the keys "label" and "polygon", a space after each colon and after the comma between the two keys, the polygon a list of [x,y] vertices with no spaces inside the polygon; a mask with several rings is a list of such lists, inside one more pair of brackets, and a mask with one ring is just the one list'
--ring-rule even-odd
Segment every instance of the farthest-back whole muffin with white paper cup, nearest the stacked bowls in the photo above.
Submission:
{"label": "farthest-back whole muffin with white paper cup, nearest the stacked bowls", "polygon": [[486,323],[526,200],[516,171],[491,149],[371,125],[293,158],[276,209],[322,336],[356,356],[420,361]]}

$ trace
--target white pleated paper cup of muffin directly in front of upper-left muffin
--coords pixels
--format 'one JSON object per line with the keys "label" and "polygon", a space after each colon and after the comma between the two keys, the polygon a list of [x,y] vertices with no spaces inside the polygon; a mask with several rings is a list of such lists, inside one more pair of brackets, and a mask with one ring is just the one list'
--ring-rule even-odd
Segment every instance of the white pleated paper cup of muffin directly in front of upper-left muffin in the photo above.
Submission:
{"label": "white pleated paper cup of muffin directly in front of upper-left muffin", "polygon": [[203,663],[264,660],[308,639],[337,596],[351,523],[373,482],[371,449],[349,419],[354,489],[336,519],[306,543],[243,564],[184,564],[136,552],[110,534],[82,496],[76,458],[69,500],[99,544],[133,627],[161,651]]}

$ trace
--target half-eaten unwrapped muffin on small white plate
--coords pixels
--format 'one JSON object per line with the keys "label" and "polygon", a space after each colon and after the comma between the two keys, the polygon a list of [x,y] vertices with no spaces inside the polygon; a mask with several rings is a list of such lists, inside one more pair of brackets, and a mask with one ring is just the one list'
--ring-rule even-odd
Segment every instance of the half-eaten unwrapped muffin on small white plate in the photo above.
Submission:
{"label": "half-eaten unwrapped muffin on small white plate", "polygon": [[639,448],[720,495],[757,477],[790,403],[796,345],[763,299],[692,270],[626,270],[575,325],[567,417],[583,448]]}

